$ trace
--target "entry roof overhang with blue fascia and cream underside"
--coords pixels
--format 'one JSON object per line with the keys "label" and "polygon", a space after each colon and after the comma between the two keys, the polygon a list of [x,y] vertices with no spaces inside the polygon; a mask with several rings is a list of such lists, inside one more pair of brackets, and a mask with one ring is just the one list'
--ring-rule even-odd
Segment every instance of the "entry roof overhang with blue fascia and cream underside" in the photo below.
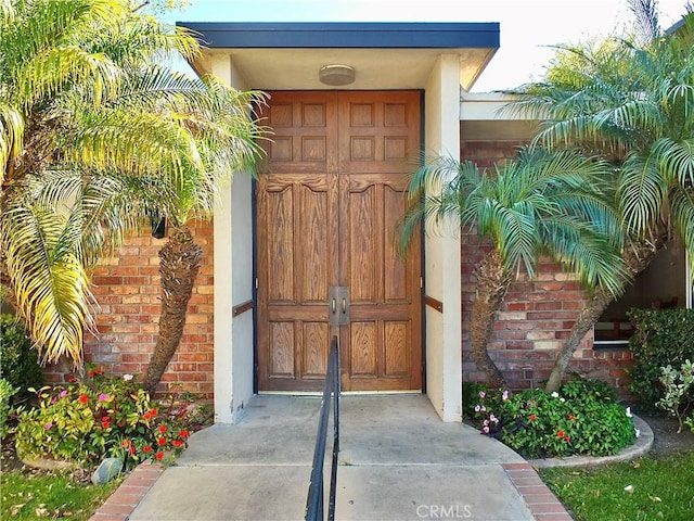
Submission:
{"label": "entry roof overhang with blue fascia and cream underside", "polygon": [[458,54],[470,89],[499,49],[499,23],[188,23],[205,51],[192,63],[210,73],[230,56],[248,88],[312,90],[329,64],[354,67],[349,89],[423,89],[441,54]]}

